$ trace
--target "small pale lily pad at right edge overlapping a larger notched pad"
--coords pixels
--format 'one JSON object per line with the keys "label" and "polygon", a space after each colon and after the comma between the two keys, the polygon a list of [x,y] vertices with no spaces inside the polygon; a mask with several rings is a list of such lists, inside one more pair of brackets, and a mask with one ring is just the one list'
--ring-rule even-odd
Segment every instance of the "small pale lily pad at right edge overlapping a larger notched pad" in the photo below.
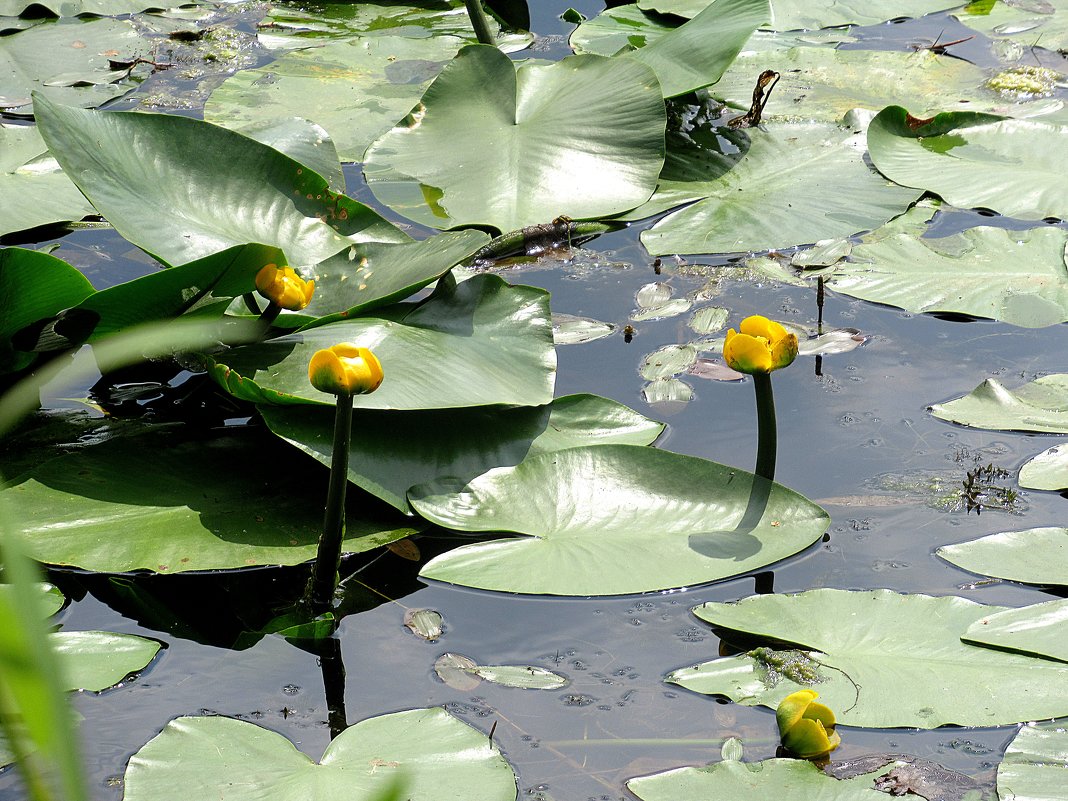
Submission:
{"label": "small pale lily pad at right edge overlapping a larger notched pad", "polygon": [[973,623],[960,639],[1068,662],[1068,600],[999,612]]}

